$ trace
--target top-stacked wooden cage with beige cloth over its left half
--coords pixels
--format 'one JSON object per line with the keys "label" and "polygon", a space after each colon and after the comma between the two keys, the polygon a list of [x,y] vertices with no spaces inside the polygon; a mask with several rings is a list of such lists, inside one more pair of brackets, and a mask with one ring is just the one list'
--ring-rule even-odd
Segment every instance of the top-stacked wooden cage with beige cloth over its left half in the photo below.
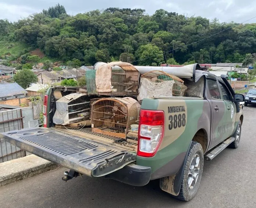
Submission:
{"label": "top-stacked wooden cage with beige cloth over its left half", "polygon": [[125,62],[98,62],[96,70],[96,91],[99,95],[136,95],[139,88],[139,72]]}

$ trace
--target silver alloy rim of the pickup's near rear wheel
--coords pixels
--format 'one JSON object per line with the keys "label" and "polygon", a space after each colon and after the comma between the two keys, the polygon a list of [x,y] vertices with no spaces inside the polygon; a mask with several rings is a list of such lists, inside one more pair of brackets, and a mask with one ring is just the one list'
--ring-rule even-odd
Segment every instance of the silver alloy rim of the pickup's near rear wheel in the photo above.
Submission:
{"label": "silver alloy rim of the pickup's near rear wheel", "polygon": [[188,188],[192,190],[198,181],[200,172],[200,156],[196,153],[191,161],[188,170]]}

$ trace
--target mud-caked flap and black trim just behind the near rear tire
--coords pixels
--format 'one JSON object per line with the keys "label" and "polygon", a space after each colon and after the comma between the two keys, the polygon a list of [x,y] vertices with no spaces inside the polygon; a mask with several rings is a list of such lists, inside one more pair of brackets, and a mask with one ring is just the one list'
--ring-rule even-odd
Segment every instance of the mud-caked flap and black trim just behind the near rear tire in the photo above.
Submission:
{"label": "mud-caked flap and black trim just behind the near rear tire", "polygon": [[[190,149],[190,146],[191,146],[191,143],[188,147],[188,151]],[[174,196],[179,195],[179,190],[181,189],[183,172],[184,172],[186,160],[188,157],[188,151],[187,151],[186,157],[183,161],[183,165],[181,166],[181,168],[179,169],[177,174],[175,174],[173,176],[166,176],[166,177],[163,177],[160,179],[160,189],[161,190],[166,191],[167,193],[172,194]]]}

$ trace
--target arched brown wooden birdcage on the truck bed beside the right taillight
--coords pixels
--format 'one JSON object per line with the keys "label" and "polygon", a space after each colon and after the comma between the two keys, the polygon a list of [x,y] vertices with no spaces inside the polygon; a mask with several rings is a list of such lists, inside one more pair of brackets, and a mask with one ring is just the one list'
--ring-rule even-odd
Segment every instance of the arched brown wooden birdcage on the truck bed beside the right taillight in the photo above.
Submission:
{"label": "arched brown wooden birdcage on the truck bed beside the right taillight", "polygon": [[126,138],[127,129],[138,120],[138,109],[132,107],[133,98],[102,98],[92,104],[92,131]]}

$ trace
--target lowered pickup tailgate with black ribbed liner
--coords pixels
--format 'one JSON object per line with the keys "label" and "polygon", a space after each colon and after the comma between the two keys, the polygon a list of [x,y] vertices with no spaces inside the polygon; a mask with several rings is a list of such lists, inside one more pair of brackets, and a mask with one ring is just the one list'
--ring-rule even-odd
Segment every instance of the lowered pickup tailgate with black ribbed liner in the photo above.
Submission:
{"label": "lowered pickup tailgate with black ribbed liner", "polygon": [[23,150],[93,177],[117,171],[136,158],[136,153],[126,152],[116,146],[63,134],[50,128],[27,128],[1,134],[7,142]]}

